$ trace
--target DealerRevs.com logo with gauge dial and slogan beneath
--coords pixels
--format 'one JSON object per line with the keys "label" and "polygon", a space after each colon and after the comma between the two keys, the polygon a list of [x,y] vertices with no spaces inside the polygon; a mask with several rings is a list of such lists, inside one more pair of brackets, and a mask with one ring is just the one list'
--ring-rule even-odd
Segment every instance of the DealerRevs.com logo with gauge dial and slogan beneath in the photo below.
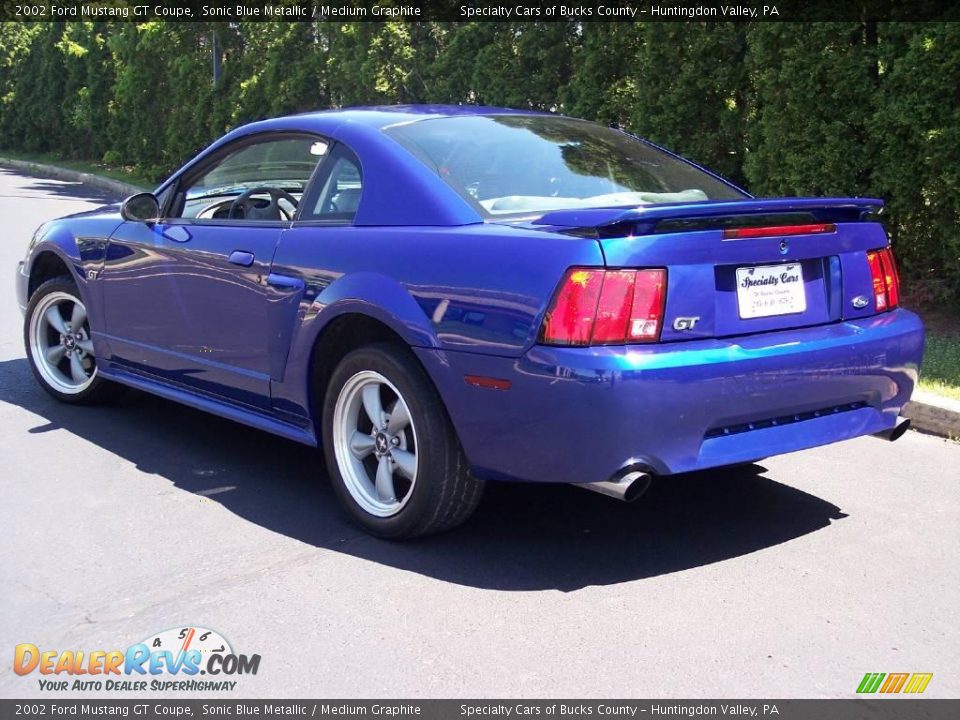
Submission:
{"label": "DealerRevs.com logo with gauge dial and slogan beneath", "polygon": [[[238,675],[256,675],[259,655],[233,651],[219,633],[201,627],[164,630],[126,650],[14,649],[17,675],[39,674],[41,690],[230,691]],[[202,678],[200,676],[203,676]]]}

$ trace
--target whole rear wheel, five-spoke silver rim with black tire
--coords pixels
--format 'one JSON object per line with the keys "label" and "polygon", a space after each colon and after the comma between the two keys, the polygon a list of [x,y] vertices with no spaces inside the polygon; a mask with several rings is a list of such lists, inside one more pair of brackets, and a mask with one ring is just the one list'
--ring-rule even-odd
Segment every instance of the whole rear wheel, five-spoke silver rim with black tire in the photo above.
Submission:
{"label": "whole rear wheel, five-spoke silver rim with black tire", "polygon": [[436,389],[402,348],[372,345],[337,365],[322,432],[334,491],[373,535],[447,530],[480,502],[483,481],[469,474]]}

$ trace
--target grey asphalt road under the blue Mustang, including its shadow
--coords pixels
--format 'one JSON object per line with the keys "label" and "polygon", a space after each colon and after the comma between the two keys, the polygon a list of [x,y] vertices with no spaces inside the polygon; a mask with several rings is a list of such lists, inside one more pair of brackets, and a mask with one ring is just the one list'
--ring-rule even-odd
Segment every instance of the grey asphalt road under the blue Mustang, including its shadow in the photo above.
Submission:
{"label": "grey asphalt road under the blue Mustang, including its shadow", "polygon": [[457,531],[375,540],[310,449],[39,390],[15,263],[40,222],[104,199],[0,170],[0,695],[41,694],[17,643],[198,625],[261,655],[238,697],[852,697],[901,671],[960,696],[960,444],[865,438],[632,505],[498,485]]}

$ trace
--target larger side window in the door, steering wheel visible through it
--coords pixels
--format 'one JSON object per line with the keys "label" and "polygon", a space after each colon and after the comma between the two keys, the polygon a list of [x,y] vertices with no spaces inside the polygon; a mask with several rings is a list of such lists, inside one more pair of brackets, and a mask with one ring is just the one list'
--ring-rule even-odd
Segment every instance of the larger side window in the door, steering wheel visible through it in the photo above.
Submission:
{"label": "larger side window in the door, steering wheel visible through it", "polygon": [[329,143],[312,136],[244,142],[178,187],[170,216],[197,220],[292,220]]}

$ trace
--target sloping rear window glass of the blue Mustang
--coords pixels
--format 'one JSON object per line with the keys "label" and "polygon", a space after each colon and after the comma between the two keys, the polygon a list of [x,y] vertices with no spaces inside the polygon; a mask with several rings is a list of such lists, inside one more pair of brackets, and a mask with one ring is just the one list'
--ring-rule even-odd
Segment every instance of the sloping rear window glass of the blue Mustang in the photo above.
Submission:
{"label": "sloping rear window glass of the blue Mustang", "polygon": [[438,118],[386,132],[487,217],[747,197],[630,135],[572,118]]}

